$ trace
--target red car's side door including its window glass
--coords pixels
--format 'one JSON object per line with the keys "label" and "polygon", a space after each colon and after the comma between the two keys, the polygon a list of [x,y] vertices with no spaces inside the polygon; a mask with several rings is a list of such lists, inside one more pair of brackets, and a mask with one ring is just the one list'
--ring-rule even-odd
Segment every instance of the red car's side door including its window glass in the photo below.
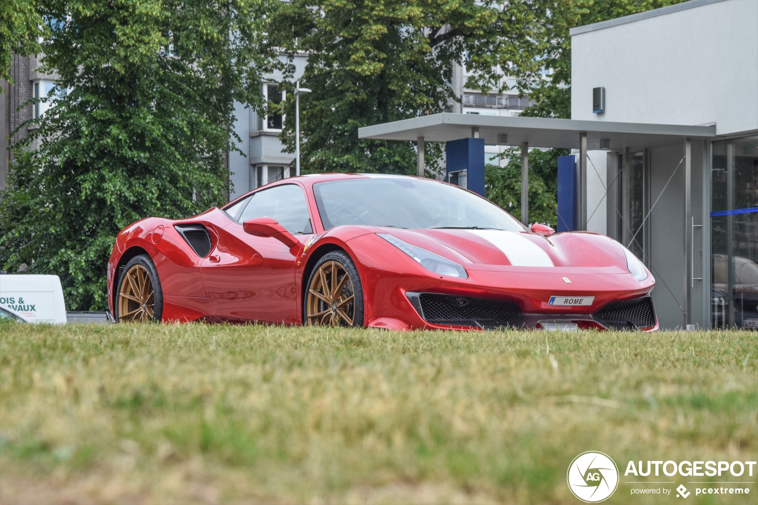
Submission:
{"label": "red car's side door including its window glass", "polygon": [[230,322],[296,323],[296,257],[277,238],[247,234],[242,223],[273,217],[305,242],[313,229],[302,187],[281,184],[255,192],[232,214],[201,268],[214,315]]}

